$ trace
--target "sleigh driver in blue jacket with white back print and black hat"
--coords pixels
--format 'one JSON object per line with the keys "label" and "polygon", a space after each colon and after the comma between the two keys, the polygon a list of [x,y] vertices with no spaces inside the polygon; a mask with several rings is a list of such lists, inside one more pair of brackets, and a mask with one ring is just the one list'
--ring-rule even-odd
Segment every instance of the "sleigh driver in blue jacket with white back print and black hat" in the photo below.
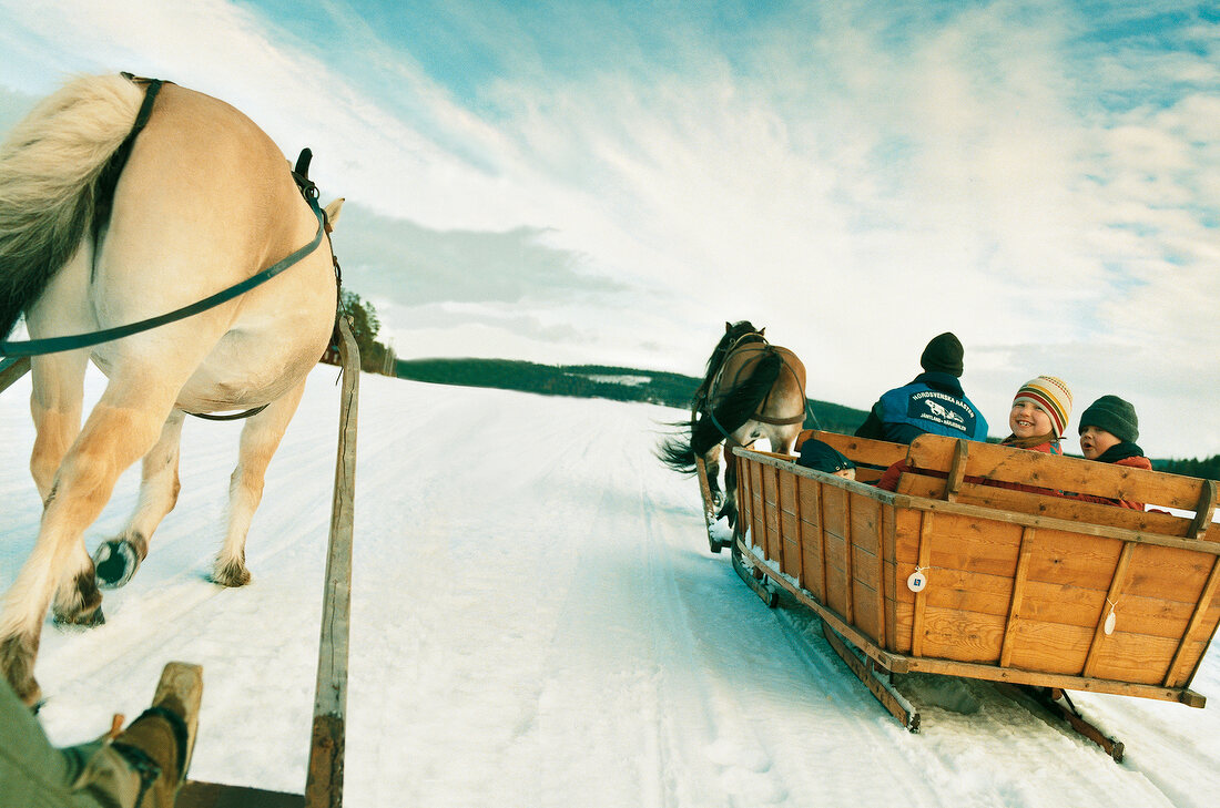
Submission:
{"label": "sleigh driver in blue jacket with white back print and black hat", "polygon": [[952,331],[932,338],[910,384],[889,390],[872,405],[856,438],[909,444],[924,433],[987,440],[987,419],[961,390],[961,340]]}

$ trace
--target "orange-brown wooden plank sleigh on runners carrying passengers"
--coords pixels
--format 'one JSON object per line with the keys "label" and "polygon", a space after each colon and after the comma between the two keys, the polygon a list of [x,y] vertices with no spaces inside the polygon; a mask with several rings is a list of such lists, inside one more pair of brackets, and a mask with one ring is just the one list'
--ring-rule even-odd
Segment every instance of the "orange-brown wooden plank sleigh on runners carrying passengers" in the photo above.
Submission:
{"label": "orange-brown wooden plank sleigh on runners carrying passengers", "polygon": [[[1220,622],[1215,483],[937,435],[909,447],[814,436],[856,462],[858,481],[736,448],[734,567],[769,606],[780,587],[816,612],[839,656],[913,731],[919,712],[891,674],[1019,686],[1118,760],[1122,745],[1064,691],[1204,706],[1190,684]],[[911,468],[897,491],[869,485],[904,458]]]}

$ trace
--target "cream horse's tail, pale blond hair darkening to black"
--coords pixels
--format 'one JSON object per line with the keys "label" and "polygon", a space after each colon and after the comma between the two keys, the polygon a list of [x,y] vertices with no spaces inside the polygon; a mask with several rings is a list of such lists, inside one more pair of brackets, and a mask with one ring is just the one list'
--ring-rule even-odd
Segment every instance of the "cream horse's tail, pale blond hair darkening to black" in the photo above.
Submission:
{"label": "cream horse's tail, pale blond hair darkening to black", "polygon": [[143,100],[121,76],[79,78],[0,145],[0,339],[87,235],[98,178]]}

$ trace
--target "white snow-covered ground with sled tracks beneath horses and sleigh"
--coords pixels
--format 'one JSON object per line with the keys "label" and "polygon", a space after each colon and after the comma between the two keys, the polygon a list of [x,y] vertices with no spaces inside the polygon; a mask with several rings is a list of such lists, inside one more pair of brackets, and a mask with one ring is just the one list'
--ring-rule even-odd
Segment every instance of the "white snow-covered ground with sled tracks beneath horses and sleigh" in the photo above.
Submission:
{"label": "white snow-covered ground with sled tracks beneath horses and sleigh", "polygon": [[[43,634],[56,743],[138,714],[171,659],[204,665],[198,780],[305,782],[338,420],[320,367],[250,531],[254,583],[206,575],[240,424],[192,419],[182,496],[106,625]],[[0,396],[0,587],[40,506],[28,378]],[[90,377],[90,397],[100,377]],[[1115,764],[986,682],[908,679],[903,730],[816,618],[767,611],[706,550],[698,487],[651,451],[675,409],[361,379],[346,804],[497,807],[1210,807],[1207,709],[1080,695]],[[138,469],[87,535],[134,507]]]}

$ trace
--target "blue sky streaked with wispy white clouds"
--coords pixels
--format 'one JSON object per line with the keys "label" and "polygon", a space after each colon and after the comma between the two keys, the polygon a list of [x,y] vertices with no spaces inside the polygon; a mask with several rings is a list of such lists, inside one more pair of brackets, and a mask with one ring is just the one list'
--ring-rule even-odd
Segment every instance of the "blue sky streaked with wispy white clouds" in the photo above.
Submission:
{"label": "blue sky streaked with wispy white clouds", "polygon": [[993,433],[1047,373],[1220,452],[1220,4],[0,9],[0,128],[127,69],[312,147],[400,356],[693,375],[752,319],[866,408],[953,330]]}

